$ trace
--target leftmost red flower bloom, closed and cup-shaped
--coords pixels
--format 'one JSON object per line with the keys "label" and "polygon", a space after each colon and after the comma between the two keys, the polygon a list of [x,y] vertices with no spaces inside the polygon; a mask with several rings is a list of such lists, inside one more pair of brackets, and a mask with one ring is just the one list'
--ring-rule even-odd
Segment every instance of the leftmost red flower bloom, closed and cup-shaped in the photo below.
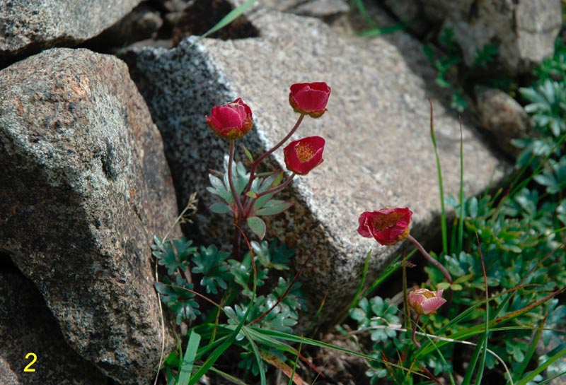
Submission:
{"label": "leftmost red flower bloom, closed and cup-shaped", "polygon": [[230,140],[239,139],[252,129],[252,110],[238,97],[226,105],[212,107],[207,123],[214,134]]}

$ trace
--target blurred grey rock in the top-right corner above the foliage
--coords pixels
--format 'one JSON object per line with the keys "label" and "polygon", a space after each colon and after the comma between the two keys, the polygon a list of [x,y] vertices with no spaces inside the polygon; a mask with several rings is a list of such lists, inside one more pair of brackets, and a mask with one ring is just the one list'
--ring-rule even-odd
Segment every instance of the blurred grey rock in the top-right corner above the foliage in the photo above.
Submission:
{"label": "blurred grey rock in the top-right corner above the foliage", "polygon": [[421,1],[432,20],[454,28],[463,59],[473,64],[478,49],[495,44],[497,64],[509,75],[528,73],[552,56],[562,27],[560,0]]}

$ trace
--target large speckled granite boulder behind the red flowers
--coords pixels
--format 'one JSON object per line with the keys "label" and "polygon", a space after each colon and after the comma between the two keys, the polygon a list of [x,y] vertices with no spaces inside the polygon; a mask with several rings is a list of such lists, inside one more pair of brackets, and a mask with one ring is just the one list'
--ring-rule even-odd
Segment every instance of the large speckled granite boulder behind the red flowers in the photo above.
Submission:
{"label": "large speckled granite boulder behind the red flowers", "polygon": [[[296,178],[290,190],[296,204],[277,217],[268,234],[296,248],[296,266],[308,259],[300,280],[311,311],[328,295],[320,321],[329,321],[359,285],[366,253],[373,250],[371,279],[397,251],[357,235],[362,211],[410,206],[415,235],[437,232],[430,228],[438,218],[439,198],[427,100],[434,69],[420,43],[403,33],[348,39],[320,20],[265,9],[248,19],[261,37],[203,40],[194,46],[185,40],[171,50],[134,49],[127,61],[163,134],[178,194],[197,191],[203,208],[215,201],[205,191],[207,169],[221,169],[226,151],[226,143],[204,119],[213,105],[243,97],[255,119],[246,146],[266,149],[298,117],[288,105],[289,85],[329,83],[328,112],[305,119],[295,136],[325,137],[325,161]],[[435,108],[445,188],[454,193],[459,124],[439,102]],[[502,177],[505,164],[470,126],[464,126],[463,136],[466,193],[475,194]],[[284,168],[282,153],[272,161]],[[205,239],[230,233],[226,227],[218,230],[223,219],[201,214],[196,229]]]}

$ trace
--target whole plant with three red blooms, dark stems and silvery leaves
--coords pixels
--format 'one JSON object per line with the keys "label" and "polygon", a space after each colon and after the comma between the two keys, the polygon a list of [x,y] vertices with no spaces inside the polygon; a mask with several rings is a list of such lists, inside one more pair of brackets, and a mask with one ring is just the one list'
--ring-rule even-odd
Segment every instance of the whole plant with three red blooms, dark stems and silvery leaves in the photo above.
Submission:
{"label": "whole plant with three red blooms, dark stems and silvery leaves", "polygon": [[[234,164],[235,141],[246,136],[253,127],[253,114],[250,107],[238,97],[226,105],[212,107],[210,115],[206,117],[207,124],[214,134],[228,139],[230,143],[228,170],[224,174],[224,179],[211,175],[212,186],[209,186],[208,189],[225,202],[214,203],[210,206],[211,211],[221,214],[231,213],[233,216],[233,225],[236,228],[233,236],[233,254],[236,259],[240,256],[241,223],[246,222],[250,230],[262,239],[265,236],[266,223],[260,217],[282,213],[291,207],[291,203],[272,199],[272,195],[288,186],[296,174],[306,175],[323,162],[325,141],[320,136],[311,136],[291,142],[284,149],[285,165],[291,171],[291,176],[283,183],[280,183],[281,175],[267,173],[269,176],[265,177],[265,174],[256,173],[260,163],[275,150],[281,148],[299,129],[306,115],[318,118],[326,111],[326,104],[330,96],[330,87],[326,83],[296,83],[291,85],[290,90],[289,103],[294,111],[299,113],[299,118],[287,135],[270,150],[260,155],[258,159],[253,160],[251,153],[245,147],[243,148],[251,162],[249,177],[247,174],[244,176],[238,174],[239,179],[234,181],[234,169],[236,173],[240,170],[238,168],[240,164],[238,163],[238,167]],[[243,189],[240,184],[242,178],[246,178],[244,182],[246,186]],[[263,199],[260,199],[262,197]]]}

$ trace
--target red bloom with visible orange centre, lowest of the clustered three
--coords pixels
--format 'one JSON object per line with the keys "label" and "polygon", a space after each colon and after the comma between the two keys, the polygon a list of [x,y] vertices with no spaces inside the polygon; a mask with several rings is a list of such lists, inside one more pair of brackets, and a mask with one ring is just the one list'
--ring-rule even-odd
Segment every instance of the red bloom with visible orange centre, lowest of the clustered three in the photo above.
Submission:
{"label": "red bloom with visible orange centre, lowest of the clustered three", "polygon": [[323,162],[324,143],[320,136],[309,136],[289,143],[283,149],[287,169],[299,175],[308,174]]}

